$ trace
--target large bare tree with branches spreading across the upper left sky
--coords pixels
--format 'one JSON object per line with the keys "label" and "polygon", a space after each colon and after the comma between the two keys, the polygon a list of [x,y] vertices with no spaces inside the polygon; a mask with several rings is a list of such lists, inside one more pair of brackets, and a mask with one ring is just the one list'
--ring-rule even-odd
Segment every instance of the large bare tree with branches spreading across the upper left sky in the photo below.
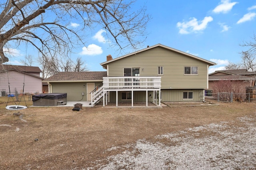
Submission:
{"label": "large bare tree with branches spreading across the upper left sky", "polygon": [[[85,44],[91,29],[101,26],[118,50],[140,48],[150,16],[134,0],[6,0],[0,2],[0,64],[8,62],[13,44],[28,43],[42,56],[68,56]],[[77,29],[70,27],[76,20]],[[44,60],[44,59],[43,59]]]}

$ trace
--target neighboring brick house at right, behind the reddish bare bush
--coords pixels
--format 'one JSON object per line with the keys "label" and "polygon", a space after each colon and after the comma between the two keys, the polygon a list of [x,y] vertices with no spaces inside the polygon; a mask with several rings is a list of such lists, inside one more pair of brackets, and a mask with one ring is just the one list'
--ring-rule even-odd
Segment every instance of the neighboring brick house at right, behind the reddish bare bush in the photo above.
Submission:
{"label": "neighboring brick house at right, behind the reddish bare bush", "polygon": [[246,93],[246,87],[255,86],[255,72],[248,72],[246,69],[220,70],[209,74],[209,89],[213,90],[214,85],[220,80],[230,80]]}

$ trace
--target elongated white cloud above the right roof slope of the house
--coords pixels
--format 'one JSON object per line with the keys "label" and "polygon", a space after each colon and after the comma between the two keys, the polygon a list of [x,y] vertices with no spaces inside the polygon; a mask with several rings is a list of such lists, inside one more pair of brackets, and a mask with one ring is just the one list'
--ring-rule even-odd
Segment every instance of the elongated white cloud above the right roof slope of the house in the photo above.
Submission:
{"label": "elongated white cloud above the right roof slope of the house", "polygon": [[202,31],[206,28],[208,22],[212,22],[211,16],[204,17],[204,20],[198,21],[196,18],[190,18],[188,22],[178,22],[177,27],[180,29],[180,34],[189,34],[192,32]]}

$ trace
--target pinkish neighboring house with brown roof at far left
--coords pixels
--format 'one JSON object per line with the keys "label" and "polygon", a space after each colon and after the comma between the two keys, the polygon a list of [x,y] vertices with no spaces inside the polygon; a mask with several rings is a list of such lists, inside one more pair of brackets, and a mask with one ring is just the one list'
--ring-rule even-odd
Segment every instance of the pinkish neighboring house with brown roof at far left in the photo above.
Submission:
{"label": "pinkish neighboring house with brown roof at far left", "polygon": [[[0,64],[1,96],[18,93],[42,93],[42,80],[39,67]],[[10,87],[10,91],[9,91]]]}

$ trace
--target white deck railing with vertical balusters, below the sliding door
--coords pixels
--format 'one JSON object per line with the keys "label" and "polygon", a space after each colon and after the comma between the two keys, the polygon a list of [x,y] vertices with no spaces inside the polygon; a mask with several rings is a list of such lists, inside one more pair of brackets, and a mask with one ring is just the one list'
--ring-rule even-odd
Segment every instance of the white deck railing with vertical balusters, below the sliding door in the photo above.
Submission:
{"label": "white deck railing with vertical balusters, below the sliding door", "polygon": [[103,77],[104,89],[159,89],[160,76]]}

